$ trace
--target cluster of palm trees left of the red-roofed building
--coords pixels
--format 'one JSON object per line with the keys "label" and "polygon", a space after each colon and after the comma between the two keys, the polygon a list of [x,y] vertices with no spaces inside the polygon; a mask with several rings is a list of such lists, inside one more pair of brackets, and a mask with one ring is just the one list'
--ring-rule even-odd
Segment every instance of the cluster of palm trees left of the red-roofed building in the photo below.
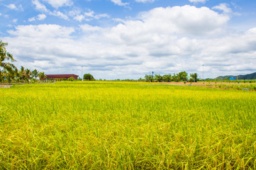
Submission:
{"label": "cluster of palm trees left of the red-roofed building", "polygon": [[39,81],[37,79],[38,77],[40,79],[46,78],[46,74],[44,72],[38,72],[36,69],[31,70],[21,66],[21,69],[18,70],[17,67],[11,63],[16,62],[16,60],[14,60],[13,55],[6,52],[6,45],[8,45],[8,43],[0,40],[0,83],[36,82]]}

